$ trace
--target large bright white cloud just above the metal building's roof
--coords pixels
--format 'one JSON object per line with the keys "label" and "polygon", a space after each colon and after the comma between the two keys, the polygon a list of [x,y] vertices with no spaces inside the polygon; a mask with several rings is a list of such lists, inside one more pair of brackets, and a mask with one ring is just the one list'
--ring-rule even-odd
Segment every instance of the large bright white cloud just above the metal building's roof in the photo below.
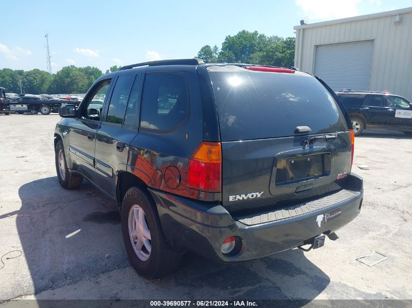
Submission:
{"label": "large bright white cloud just above the metal building's roof", "polygon": [[359,15],[361,0],[295,0],[303,15],[310,19],[338,19]]}

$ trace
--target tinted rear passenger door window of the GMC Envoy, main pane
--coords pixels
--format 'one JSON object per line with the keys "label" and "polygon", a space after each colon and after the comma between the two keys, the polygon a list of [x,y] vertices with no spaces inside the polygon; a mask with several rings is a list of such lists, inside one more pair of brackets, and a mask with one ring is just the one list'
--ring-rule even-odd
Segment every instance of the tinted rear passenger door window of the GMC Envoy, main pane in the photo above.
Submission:
{"label": "tinted rear passenger door window of the GMC Envoy, main pane", "polygon": [[119,76],[110,99],[106,122],[123,124],[124,112],[136,75]]}

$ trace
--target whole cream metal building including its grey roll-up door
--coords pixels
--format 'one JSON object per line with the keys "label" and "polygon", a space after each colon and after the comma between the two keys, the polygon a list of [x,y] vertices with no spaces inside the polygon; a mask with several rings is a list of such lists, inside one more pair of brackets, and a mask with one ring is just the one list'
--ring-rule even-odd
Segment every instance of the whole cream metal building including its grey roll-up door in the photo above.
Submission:
{"label": "whole cream metal building including its grey roll-up door", "polygon": [[412,7],[295,26],[294,66],[334,91],[384,91],[412,102]]}

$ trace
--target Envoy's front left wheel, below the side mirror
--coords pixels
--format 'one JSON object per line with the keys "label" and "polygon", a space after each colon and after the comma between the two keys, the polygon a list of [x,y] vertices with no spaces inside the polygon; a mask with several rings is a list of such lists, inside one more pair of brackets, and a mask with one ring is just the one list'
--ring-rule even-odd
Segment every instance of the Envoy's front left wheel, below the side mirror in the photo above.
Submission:
{"label": "Envoy's front left wheel, below the side mirror", "polygon": [[83,177],[75,174],[67,168],[66,156],[64,154],[63,142],[59,140],[55,148],[56,172],[61,187],[66,189],[78,188],[83,181]]}

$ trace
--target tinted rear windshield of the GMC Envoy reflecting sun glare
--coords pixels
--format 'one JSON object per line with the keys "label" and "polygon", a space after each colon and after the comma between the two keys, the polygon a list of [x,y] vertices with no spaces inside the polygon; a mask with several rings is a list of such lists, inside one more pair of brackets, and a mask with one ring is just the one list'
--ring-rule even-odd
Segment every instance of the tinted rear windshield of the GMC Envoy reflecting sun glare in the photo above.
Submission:
{"label": "tinted rear windshield of the GMC Envoy reflecting sun glare", "polygon": [[312,76],[273,72],[209,72],[222,141],[347,130],[332,95]]}

